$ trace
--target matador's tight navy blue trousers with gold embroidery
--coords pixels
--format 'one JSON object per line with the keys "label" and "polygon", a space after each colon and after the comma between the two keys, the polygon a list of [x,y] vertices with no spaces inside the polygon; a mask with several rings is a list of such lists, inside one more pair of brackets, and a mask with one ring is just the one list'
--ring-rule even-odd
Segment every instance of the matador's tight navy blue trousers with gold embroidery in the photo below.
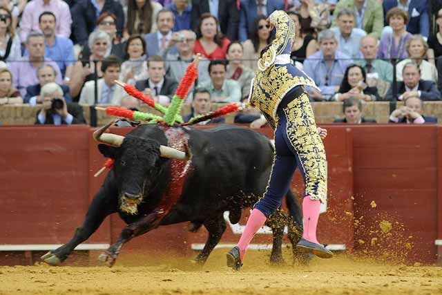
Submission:
{"label": "matador's tight navy blue trousers with gold embroidery", "polygon": [[323,202],[327,195],[325,149],[316,129],[309,96],[302,86],[285,95],[275,119],[272,171],[264,196],[254,206],[267,217],[280,207],[296,167],[305,183],[304,196]]}

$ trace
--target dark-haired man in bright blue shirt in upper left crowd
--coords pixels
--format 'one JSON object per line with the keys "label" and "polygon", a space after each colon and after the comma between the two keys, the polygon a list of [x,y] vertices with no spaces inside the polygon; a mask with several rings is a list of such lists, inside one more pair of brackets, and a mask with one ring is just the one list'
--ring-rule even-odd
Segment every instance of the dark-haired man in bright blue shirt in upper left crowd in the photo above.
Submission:
{"label": "dark-haired man in bright blue shirt in upper left crowd", "polygon": [[40,15],[39,26],[45,39],[44,56],[57,62],[64,82],[69,84],[75,64],[74,44],[66,37],[55,35],[57,19],[52,12],[45,11]]}

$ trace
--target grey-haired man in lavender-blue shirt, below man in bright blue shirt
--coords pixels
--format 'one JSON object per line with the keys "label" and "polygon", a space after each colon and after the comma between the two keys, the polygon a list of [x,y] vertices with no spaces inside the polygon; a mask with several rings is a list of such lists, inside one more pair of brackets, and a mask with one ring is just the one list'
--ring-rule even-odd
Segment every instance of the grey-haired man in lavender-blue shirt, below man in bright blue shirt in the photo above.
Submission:
{"label": "grey-haired man in lavender-blue shirt, below man in bright blue shirt", "polygon": [[60,69],[55,61],[44,57],[44,35],[41,32],[31,32],[26,39],[26,50],[28,56],[21,57],[17,61],[11,61],[9,66],[14,79],[14,86],[17,88],[21,97],[26,95],[26,87],[38,84],[37,69],[43,64],[50,64],[57,72],[55,81],[61,84]]}

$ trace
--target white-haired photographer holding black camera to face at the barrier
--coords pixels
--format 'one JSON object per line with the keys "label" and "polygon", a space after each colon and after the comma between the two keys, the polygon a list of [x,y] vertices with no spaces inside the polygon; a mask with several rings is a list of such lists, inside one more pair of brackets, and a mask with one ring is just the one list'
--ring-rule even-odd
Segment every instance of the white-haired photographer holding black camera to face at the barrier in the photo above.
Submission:
{"label": "white-haired photographer holding black camera to face at the barrier", "polygon": [[41,87],[43,108],[37,113],[35,124],[86,124],[83,108],[78,104],[64,101],[63,91],[56,83],[48,83]]}

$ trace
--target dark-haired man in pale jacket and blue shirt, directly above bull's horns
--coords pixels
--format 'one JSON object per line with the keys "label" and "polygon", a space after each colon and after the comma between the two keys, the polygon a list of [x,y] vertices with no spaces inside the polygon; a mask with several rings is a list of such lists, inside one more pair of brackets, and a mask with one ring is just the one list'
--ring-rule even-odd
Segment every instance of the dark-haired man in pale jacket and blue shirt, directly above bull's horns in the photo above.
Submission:
{"label": "dark-haired man in pale jacket and blue shirt, directly above bull's horns", "polygon": [[124,89],[115,84],[119,77],[121,61],[115,55],[109,55],[102,62],[103,77],[97,80],[97,99],[95,99],[95,81],[88,81],[81,90],[79,104],[112,104],[119,106]]}

